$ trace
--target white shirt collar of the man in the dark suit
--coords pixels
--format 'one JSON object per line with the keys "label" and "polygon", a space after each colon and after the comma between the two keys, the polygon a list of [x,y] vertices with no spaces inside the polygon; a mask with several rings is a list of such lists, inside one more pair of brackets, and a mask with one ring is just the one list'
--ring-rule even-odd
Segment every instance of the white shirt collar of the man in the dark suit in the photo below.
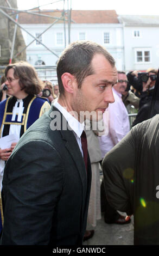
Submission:
{"label": "white shirt collar of the man in the dark suit", "polygon": [[73,117],[68,111],[66,107],[62,107],[58,100],[54,101],[53,105],[59,109],[59,111],[62,113],[63,117],[66,118],[69,126],[71,129],[77,134],[77,136],[80,138],[82,131],[84,131],[84,123],[80,123],[77,119]]}

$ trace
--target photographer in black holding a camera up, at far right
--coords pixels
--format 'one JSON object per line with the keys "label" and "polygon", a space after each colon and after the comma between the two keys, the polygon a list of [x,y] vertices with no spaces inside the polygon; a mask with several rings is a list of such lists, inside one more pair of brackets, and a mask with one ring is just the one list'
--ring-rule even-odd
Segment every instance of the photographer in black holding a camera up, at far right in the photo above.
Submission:
{"label": "photographer in black holding a camera up, at far right", "polygon": [[[152,95],[154,93],[156,75],[157,70],[152,68],[148,69],[146,74],[144,73],[143,77],[142,75],[139,75],[141,76],[142,81],[144,80],[142,84],[143,89],[141,94],[141,100],[139,102],[138,114],[132,126],[135,126],[136,124],[149,119],[149,109],[151,106]],[[159,102],[158,104],[156,104],[155,113],[159,113]]]}

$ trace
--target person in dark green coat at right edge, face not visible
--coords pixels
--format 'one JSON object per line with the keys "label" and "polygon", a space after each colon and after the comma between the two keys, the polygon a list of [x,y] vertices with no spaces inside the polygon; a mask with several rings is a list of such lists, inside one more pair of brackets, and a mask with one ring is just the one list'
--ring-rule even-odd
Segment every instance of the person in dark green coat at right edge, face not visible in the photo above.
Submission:
{"label": "person in dark green coat at right edge, face not visible", "polygon": [[134,126],[103,160],[110,205],[134,215],[134,244],[159,245],[159,114]]}

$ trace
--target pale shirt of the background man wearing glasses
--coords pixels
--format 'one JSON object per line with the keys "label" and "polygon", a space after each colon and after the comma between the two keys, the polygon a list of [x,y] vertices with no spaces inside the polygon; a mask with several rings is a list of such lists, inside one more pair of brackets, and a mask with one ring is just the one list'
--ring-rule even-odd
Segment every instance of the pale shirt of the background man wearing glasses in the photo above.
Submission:
{"label": "pale shirt of the background man wearing glasses", "polygon": [[122,101],[122,94],[114,88],[112,90],[115,102],[110,103],[106,110],[109,112],[109,132],[107,136],[98,137],[102,157],[130,131],[128,111]]}

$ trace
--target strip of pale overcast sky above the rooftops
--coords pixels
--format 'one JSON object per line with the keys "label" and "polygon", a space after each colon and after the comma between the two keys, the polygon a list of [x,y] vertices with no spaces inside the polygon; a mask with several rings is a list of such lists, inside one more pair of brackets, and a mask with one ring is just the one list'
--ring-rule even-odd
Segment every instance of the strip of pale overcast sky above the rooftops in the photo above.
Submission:
{"label": "strip of pale overcast sky above the rooftops", "polygon": [[[69,0],[73,10],[116,10],[117,14],[159,15],[158,0]],[[48,3],[52,3],[49,4]],[[18,9],[63,9],[63,0],[17,0]],[[67,9],[65,0],[65,9]]]}

